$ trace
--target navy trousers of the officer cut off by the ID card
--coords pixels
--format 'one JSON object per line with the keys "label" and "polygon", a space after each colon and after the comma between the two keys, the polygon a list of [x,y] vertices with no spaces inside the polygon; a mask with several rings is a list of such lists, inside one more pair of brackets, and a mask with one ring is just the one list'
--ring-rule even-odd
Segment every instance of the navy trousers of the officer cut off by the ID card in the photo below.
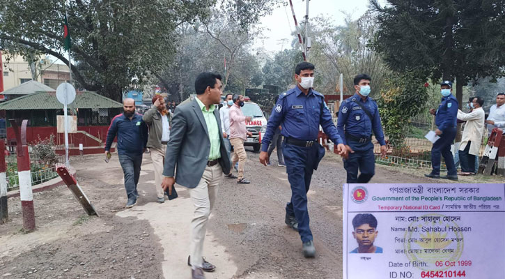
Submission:
{"label": "navy trousers of the officer cut off by the ID card", "polygon": [[[368,183],[375,174],[375,156],[372,142],[355,142],[347,140],[354,151],[343,159],[343,168],[347,172],[347,183]],[[358,176],[358,170],[361,172]]]}

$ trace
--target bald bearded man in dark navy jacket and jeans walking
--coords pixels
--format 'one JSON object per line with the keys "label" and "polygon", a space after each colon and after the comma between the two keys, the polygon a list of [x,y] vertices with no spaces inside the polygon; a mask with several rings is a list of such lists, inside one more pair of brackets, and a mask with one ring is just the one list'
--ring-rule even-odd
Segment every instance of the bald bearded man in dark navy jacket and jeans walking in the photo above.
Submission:
{"label": "bald bearded man in dark navy jacket and jeans walking", "polygon": [[110,153],[112,142],[118,136],[118,158],[125,174],[125,189],[128,196],[126,208],[137,204],[137,184],[142,165],[142,154],[146,151],[147,126],[140,114],[135,113],[135,101],[126,98],[123,101],[123,113],[114,116],[107,131],[105,155]]}

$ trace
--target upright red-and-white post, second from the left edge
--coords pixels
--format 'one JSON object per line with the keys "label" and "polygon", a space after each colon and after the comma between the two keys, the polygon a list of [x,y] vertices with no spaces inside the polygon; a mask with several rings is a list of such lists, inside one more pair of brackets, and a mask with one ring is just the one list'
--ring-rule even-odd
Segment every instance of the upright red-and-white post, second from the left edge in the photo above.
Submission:
{"label": "upright red-and-white post, second from the left edge", "polygon": [[[21,150],[20,150],[21,149]],[[28,146],[17,149],[17,176],[20,179],[21,209],[23,229],[31,232],[35,229],[35,210],[33,209],[33,192],[31,190],[30,154]]]}

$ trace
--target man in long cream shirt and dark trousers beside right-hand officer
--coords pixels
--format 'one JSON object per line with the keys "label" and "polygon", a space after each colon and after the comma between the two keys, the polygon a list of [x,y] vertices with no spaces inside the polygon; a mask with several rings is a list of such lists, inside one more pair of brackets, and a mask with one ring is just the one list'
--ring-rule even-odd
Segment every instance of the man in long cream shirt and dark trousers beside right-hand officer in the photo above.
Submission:
{"label": "man in long cream shirt and dark trousers beside right-hand officer", "polygon": [[458,175],[475,174],[475,156],[479,156],[482,134],[484,131],[485,113],[482,109],[484,100],[481,97],[472,98],[472,112],[458,110],[458,120],[467,121],[459,149],[461,172]]}

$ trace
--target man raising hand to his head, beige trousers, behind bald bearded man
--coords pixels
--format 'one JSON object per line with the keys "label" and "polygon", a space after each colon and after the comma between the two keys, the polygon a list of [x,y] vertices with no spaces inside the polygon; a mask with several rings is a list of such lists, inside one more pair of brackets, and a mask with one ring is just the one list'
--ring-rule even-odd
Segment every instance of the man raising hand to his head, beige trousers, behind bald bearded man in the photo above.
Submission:
{"label": "man raising hand to his head, beige trousers, behind bald bearded man", "polygon": [[163,188],[163,164],[165,160],[166,144],[170,140],[170,113],[166,110],[163,96],[153,97],[153,106],[142,116],[149,126],[147,147],[150,149],[151,160],[155,170],[155,189],[157,202],[165,202]]}

